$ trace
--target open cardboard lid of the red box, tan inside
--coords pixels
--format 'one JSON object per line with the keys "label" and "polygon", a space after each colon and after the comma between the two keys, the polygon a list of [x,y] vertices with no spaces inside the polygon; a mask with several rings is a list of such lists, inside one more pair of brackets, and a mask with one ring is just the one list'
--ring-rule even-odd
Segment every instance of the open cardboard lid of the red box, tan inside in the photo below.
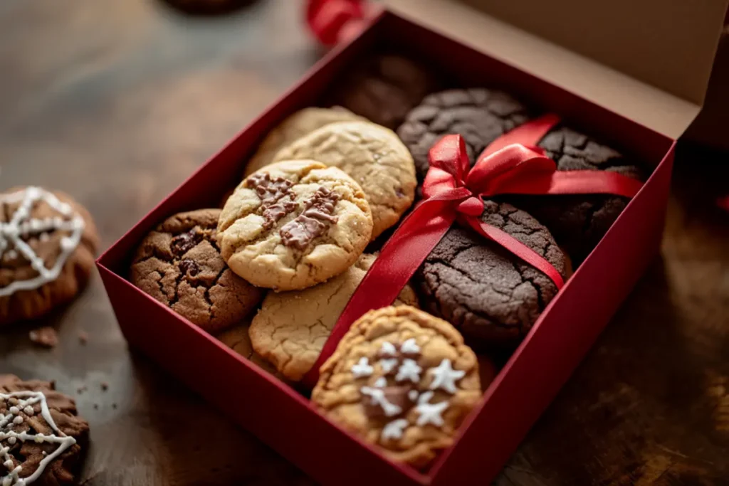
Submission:
{"label": "open cardboard lid of the red box, tan inside", "polygon": [[729,0],[381,0],[671,138],[701,110]]}

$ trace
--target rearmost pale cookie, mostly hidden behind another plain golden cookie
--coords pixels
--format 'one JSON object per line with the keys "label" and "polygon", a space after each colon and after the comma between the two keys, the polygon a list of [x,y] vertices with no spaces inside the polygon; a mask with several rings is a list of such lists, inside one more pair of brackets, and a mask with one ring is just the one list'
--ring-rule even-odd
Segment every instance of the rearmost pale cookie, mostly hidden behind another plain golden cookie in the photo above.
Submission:
{"label": "rearmost pale cookie, mostly hidden behind another plain golden cookie", "polygon": [[361,120],[348,109],[340,106],[334,108],[305,108],[297,111],[273,128],[258,146],[258,150],[246,165],[246,176],[273,162],[273,156],[284,146],[313,132],[317,128],[335,122],[351,122]]}

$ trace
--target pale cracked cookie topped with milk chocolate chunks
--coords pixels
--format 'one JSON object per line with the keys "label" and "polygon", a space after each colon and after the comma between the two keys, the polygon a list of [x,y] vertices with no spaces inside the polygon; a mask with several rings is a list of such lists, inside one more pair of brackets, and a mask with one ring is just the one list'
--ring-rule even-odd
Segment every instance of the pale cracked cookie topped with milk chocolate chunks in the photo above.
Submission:
{"label": "pale cracked cookie topped with milk chocolate chunks", "polygon": [[286,291],[347,270],[371,235],[372,213],[359,184],[338,168],[289,160],[238,185],[220,213],[217,238],[235,273]]}

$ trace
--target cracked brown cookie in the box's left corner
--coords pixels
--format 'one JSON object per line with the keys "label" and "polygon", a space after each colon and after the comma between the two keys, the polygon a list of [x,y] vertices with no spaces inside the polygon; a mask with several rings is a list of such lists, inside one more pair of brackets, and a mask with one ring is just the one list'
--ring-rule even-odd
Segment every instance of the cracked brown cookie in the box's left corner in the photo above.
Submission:
{"label": "cracked brown cookie in the box's left corner", "polygon": [[207,332],[237,324],[263,298],[220,256],[219,215],[198,209],[171,216],[142,240],[131,267],[134,285]]}

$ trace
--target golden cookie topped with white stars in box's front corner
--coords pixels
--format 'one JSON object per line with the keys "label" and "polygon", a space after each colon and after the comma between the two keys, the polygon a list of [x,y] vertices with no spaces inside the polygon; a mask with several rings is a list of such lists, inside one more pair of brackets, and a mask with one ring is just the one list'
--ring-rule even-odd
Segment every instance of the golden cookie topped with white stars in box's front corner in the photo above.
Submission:
{"label": "golden cookie topped with white stars in box's front corner", "polygon": [[311,393],[327,418],[418,469],[453,444],[480,397],[478,361],[461,334],[406,305],[352,324]]}

